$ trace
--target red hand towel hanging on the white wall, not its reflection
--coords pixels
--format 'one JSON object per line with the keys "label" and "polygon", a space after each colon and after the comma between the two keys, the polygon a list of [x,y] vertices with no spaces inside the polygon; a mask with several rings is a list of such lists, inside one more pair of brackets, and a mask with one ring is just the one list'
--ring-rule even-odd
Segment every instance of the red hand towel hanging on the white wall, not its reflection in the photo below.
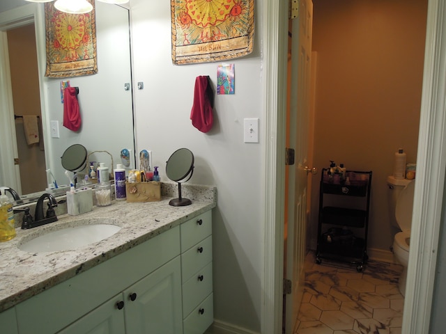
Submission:
{"label": "red hand towel hanging on the white wall, not its reflection", "polygon": [[194,104],[190,112],[192,125],[201,132],[208,132],[213,125],[214,95],[210,86],[210,79],[201,75],[195,79]]}

